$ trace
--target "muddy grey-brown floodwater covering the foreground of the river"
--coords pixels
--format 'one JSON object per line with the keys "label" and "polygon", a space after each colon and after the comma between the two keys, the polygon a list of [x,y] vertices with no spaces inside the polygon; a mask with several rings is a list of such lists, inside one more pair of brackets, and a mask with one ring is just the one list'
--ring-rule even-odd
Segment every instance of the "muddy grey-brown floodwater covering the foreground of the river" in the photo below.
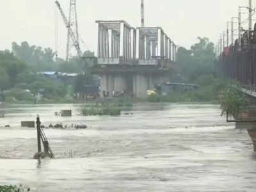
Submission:
{"label": "muddy grey-brown floodwater covering the foreground of the river", "polygon": [[[72,117],[55,116],[72,109]],[[32,191],[256,191],[256,157],[246,130],[235,129],[211,104],[134,104],[121,116],[79,116],[79,105],[16,105],[0,118],[0,185]],[[36,130],[42,124],[55,159],[42,164]],[[10,125],[10,127],[4,127]]]}

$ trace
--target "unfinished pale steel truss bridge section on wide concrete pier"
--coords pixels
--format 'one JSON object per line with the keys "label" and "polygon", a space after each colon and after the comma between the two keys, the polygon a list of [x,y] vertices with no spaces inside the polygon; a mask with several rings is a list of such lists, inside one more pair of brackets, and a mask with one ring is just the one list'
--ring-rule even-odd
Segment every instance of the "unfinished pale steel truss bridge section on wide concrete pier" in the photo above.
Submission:
{"label": "unfinished pale steel truss bridge section on wide concrete pier", "polygon": [[132,28],[124,20],[97,20],[100,91],[147,97],[147,90],[170,81],[177,45],[162,28]]}

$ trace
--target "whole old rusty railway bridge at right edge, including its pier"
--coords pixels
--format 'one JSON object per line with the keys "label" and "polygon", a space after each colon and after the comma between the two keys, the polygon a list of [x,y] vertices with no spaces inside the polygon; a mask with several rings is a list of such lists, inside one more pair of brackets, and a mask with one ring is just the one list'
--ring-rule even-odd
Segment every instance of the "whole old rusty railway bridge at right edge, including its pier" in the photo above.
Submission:
{"label": "whole old rusty railway bridge at right edge, including its pier", "polygon": [[256,152],[256,24],[253,30],[243,31],[234,45],[224,47],[216,58],[216,74],[223,78],[234,79],[250,99],[250,106],[243,115],[235,120],[236,127],[246,128],[253,141]]}

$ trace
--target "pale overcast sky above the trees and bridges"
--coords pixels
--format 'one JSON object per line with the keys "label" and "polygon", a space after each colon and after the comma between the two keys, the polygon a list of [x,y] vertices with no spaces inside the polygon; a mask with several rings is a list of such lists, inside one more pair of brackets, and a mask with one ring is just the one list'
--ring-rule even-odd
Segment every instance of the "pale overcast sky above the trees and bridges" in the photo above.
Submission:
{"label": "pale overcast sky above the trees and bridges", "polygon": [[[67,15],[68,1],[59,0]],[[237,16],[238,6],[247,3],[248,0],[145,0],[145,26],[161,26],[176,44],[188,48],[197,36],[207,36],[215,43],[227,21]],[[0,50],[22,41],[55,50],[55,13],[54,0],[1,0]],[[77,0],[77,16],[84,41],[82,51],[97,52],[95,20],[126,20],[133,27],[140,26],[140,0]],[[64,57],[67,29],[60,15],[58,29],[58,52]]]}

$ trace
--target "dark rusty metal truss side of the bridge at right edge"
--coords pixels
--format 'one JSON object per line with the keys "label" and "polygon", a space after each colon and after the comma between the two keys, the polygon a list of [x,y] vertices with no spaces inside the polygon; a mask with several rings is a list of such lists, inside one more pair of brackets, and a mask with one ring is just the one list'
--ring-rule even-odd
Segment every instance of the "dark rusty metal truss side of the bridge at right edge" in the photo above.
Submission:
{"label": "dark rusty metal truss side of the bridge at right edge", "polygon": [[218,73],[241,82],[250,90],[256,90],[256,24],[253,31],[244,31],[234,46],[225,47],[217,62]]}

